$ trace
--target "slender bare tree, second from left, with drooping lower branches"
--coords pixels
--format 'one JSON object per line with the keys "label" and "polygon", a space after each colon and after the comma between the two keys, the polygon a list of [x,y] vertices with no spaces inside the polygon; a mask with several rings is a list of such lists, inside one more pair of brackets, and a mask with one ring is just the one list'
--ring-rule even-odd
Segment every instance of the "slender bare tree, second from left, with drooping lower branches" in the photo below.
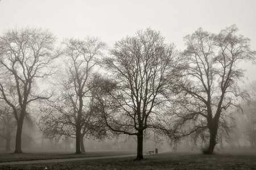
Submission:
{"label": "slender bare tree, second from left, with drooping lower branches", "polygon": [[89,132],[90,126],[97,126],[98,123],[89,83],[106,44],[95,37],[86,37],[84,40],[66,39],[63,45],[65,68],[57,82],[60,97],[54,103],[48,103],[50,113],[43,119],[50,122],[44,122],[50,133],[75,137],[76,154],[81,154],[84,135]]}

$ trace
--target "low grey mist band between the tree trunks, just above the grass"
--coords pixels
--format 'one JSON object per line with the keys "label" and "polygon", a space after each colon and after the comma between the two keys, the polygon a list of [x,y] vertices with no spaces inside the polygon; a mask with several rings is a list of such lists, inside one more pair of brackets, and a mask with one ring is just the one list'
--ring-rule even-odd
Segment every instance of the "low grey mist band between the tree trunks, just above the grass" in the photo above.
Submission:
{"label": "low grey mist band between the tree trunks, just above the grass", "polygon": [[[239,153],[256,154],[256,126],[255,126],[255,83],[247,84],[250,90],[251,100],[242,101],[241,108],[232,108],[232,128],[228,134],[219,134],[217,145],[214,152],[217,153]],[[75,152],[75,139],[65,138],[56,135],[53,139],[47,139],[39,131],[38,118],[39,113],[31,114],[32,117],[24,121],[22,133],[22,148],[24,152],[42,152],[42,153],[65,153]],[[16,125],[13,114],[8,114],[9,118],[1,120],[0,131],[0,151],[13,152],[15,150]],[[32,121],[33,120],[33,121]],[[9,121],[10,150],[7,148],[6,121]],[[230,127],[231,127],[230,126]],[[158,149],[158,152],[197,152],[200,153],[207,143],[195,138],[193,135],[182,138],[176,145],[171,145],[169,139],[160,137],[160,140],[154,138],[154,134],[149,134],[143,141],[144,154],[149,150]],[[137,151],[137,138],[129,135],[110,136],[108,138],[88,139],[84,138],[84,147],[86,152],[97,151]]]}

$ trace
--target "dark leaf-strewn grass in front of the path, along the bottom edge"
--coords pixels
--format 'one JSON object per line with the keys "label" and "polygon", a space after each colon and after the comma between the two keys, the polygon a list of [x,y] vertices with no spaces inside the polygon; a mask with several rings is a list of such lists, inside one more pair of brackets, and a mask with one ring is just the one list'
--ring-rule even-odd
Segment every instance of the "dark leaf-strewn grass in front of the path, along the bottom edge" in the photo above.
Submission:
{"label": "dark leaf-strewn grass in front of the path, along the bottom edge", "polygon": [[256,169],[253,154],[167,152],[135,158],[79,160],[64,163],[1,165],[0,169]]}

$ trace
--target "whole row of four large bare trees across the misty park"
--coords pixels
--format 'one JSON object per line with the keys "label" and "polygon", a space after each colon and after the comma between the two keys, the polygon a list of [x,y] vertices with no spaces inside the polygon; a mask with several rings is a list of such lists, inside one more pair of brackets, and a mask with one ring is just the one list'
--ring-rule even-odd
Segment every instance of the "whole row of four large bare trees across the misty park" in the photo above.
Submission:
{"label": "whole row of four large bare trees across the misty park", "polygon": [[199,28],[184,37],[184,51],[151,28],[113,48],[90,36],[59,43],[40,28],[3,32],[0,120],[16,126],[15,153],[22,152],[23,122],[34,107],[44,137],[75,138],[76,154],[85,152],[85,137],[127,134],[137,137],[137,159],[143,159],[149,131],[172,143],[193,135],[204,141],[204,154],[213,154],[221,134],[229,133],[232,109],[250,99],[239,64],[255,62],[256,52],[237,31],[236,25],[220,33]]}

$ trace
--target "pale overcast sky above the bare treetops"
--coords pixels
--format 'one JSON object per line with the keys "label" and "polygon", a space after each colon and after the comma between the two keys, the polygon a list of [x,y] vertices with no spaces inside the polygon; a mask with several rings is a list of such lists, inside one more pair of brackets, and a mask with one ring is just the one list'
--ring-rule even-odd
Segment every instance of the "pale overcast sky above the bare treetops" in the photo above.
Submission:
{"label": "pale overcast sky above the bare treetops", "polygon": [[[256,0],[0,0],[0,34],[15,27],[42,27],[60,41],[90,35],[112,46],[151,27],[184,49],[183,37],[197,28],[218,33],[232,24],[256,50]],[[241,66],[250,81],[256,80],[256,65]]]}

